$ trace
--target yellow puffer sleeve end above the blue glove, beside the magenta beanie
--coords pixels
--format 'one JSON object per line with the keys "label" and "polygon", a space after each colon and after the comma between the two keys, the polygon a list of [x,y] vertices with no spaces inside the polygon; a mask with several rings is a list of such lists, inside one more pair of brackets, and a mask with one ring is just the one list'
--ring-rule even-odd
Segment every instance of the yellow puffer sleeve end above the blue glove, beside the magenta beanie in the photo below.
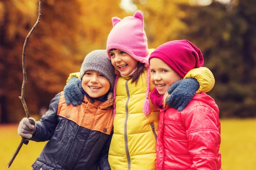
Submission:
{"label": "yellow puffer sleeve end above the blue glove, beside the magenta beanie", "polygon": [[198,91],[196,91],[196,93],[209,92],[212,90],[215,84],[215,79],[212,72],[209,70],[209,68],[206,68],[206,67],[194,68],[190,70],[185,75],[184,79],[186,78],[197,79],[200,86],[198,88]]}

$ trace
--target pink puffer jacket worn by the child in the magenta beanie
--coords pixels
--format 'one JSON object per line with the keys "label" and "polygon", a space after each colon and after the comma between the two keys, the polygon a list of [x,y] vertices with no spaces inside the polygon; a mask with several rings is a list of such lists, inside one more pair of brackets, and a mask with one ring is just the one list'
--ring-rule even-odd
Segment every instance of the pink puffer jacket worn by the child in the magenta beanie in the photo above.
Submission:
{"label": "pink puffer jacket worn by the child in the magenta beanie", "polygon": [[215,101],[195,94],[181,112],[160,109],[157,170],[221,170],[221,124]]}

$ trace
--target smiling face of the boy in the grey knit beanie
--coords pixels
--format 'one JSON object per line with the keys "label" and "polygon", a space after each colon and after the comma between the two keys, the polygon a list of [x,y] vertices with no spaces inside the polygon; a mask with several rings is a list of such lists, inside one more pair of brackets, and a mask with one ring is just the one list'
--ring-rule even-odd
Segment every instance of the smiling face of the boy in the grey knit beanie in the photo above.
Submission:
{"label": "smiling face of the boy in the grey knit beanie", "polygon": [[86,71],[82,77],[82,88],[93,98],[104,98],[110,89],[110,83],[98,71]]}

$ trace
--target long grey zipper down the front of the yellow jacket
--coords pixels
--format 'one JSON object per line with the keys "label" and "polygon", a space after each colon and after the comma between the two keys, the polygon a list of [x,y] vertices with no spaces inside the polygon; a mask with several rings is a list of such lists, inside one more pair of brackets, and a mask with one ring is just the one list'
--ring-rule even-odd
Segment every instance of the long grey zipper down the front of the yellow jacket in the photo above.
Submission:
{"label": "long grey zipper down the front of the yellow jacket", "polygon": [[129,150],[128,150],[128,139],[127,139],[127,122],[128,122],[128,102],[129,102],[129,99],[130,99],[130,93],[129,93],[129,89],[128,89],[128,80],[126,80],[125,82],[125,88],[126,88],[126,93],[127,93],[127,96],[128,96],[128,99],[126,101],[126,104],[125,104],[125,151],[126,151],[126,156],[127,156],[127,161],[128,161],[128,170],[131,170],[131,158],[130,158],[130,153],[129,153]]}

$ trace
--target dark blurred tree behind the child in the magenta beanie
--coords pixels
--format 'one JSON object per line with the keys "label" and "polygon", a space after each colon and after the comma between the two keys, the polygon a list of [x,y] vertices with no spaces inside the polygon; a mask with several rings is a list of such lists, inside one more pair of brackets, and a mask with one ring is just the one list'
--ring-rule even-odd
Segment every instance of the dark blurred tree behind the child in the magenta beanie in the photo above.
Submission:
{"label": "dark blurred tree behind the child in the magenta beanie", "polygon": [[[239,0],[230,6],[180,6],[188,27],[181,38],[201,48],[215,75],[209,93],[222,117],[256,116],[256,2]],[[227,8],[228,7],[228,8]]]}

